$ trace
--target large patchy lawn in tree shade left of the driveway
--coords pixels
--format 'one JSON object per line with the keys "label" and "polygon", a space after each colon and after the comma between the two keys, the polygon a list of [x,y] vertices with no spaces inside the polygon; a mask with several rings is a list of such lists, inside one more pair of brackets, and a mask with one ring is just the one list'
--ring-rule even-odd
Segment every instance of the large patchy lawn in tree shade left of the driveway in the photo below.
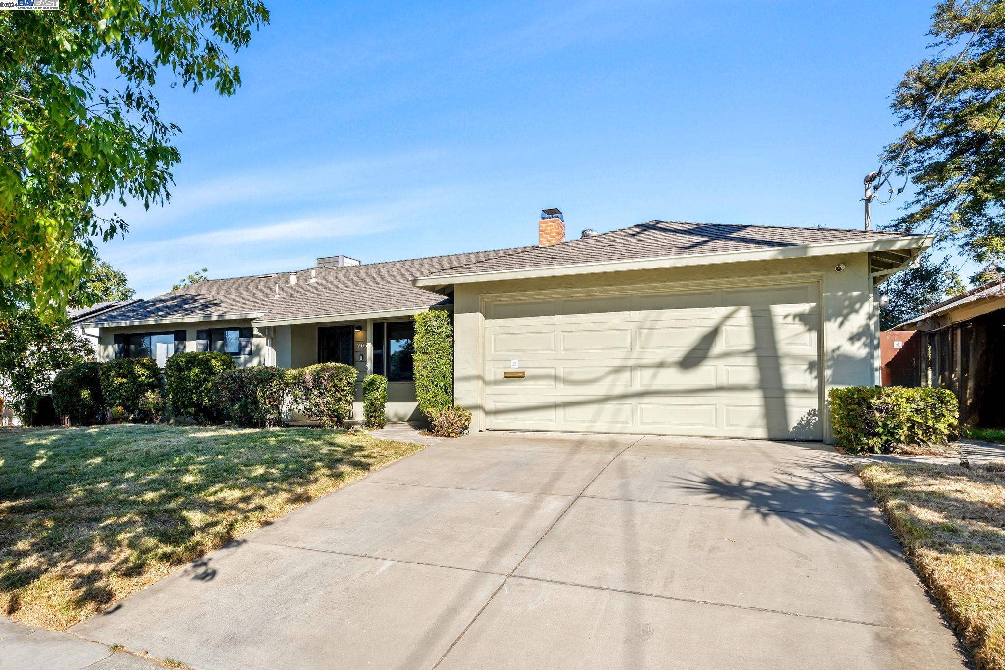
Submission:
{"label": "large patchy lawn in tree shade left of the driveway", "polygon": [[0,429],[0,614],[65,629],[420,448],[317,428]]}

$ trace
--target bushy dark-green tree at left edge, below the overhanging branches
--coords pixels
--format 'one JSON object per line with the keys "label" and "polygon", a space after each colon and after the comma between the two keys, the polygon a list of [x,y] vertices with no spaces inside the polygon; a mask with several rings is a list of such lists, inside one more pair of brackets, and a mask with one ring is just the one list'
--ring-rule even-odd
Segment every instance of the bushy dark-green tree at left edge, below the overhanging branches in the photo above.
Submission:
{"label": "bushy dark-green tree at left edge, below the overhanging branches", "polygon": [[65,317],[47,323],[32,309],[0,315],[0,395],[28,421],[38,397],[52,390],[56,373],[93,355]]}

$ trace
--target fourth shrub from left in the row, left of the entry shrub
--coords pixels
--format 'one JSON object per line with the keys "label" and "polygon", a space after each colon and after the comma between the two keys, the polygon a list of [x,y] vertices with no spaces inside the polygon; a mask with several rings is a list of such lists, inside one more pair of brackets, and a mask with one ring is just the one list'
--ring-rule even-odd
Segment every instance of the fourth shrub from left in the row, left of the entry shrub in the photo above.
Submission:
{"label": "fourth shrub from left in the row, left of the entry shrub", "polygon": [[212,386],[224,416],[238,426],[281,426],[289,400],[288,372],[253,366],[217,375]]}

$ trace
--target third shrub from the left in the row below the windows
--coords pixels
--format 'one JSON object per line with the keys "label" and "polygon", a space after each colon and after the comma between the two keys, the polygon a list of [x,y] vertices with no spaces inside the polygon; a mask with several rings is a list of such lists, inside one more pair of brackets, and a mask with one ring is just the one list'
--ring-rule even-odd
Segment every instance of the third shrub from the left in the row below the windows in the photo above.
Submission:
{"label": "third shrub from the left in the row below the windows", "polygon": [[233,369],[233,357],[220,352],[187,352],[172,356],[164,366],[168,379],[166,398],[171,412],[195,421],[219,420],[221,412],[213,391],[213,379]]}

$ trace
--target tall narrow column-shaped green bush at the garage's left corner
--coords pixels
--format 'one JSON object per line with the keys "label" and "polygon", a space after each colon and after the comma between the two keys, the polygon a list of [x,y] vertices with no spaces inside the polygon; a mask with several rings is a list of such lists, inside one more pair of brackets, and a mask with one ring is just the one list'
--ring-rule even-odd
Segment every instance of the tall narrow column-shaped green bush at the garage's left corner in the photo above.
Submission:
{"label": "tall narrow column-shaped green bush at the garage's left corner", "polygon": [[453,407],[453,324],[450,314],[432,309],[415,314],[415,397],[419,411]]}

